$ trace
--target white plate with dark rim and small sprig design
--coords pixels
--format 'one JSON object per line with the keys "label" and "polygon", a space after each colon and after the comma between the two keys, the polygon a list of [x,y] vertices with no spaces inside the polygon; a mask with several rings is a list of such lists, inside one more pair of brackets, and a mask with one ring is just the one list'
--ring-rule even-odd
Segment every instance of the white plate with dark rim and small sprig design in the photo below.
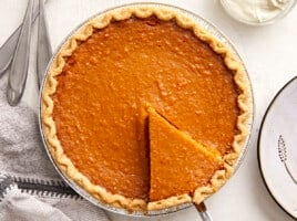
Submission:
{"label": "white plate with dark rim and small sprig design", "polygon": [[267,189],[297,219],[297,76],[278,92],[265,114],[258,159]]}

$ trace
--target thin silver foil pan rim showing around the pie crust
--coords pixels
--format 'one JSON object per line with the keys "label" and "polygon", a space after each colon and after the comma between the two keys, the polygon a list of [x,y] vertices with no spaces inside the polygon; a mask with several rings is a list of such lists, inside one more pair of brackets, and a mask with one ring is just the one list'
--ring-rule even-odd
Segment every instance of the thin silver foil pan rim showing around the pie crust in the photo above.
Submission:
{"label": "thin silver foil pan rim showing around the pie crust", "polygon": [[[162,7],[162,8],[168,8],[171,10],[175,10],[177,11],[178,13],[183,13],[185,15],[187,15],[188,18],[192,18],[194,19],[195,21],[197,21],[197,23],[199,23],[201,27],[203,27],[205,30],[207,30],[208,32],[211,32],[213,35],[215,35],[217,39],[219,39],[223,43],[225,43],[226,45],[228,45],[228,48],[233,51],[233,53],[235,55],[237,55],[237,57],[242,61],[239,54],[237,53],[237,51],[235,50],[234,45],[232,44],[232,42],[214,25],[212,24],[211,22],[206,21],[205,19],[203,19],[202,17],[197,15],[197,14],[194,14],[193,12],[190,12],[190,11],[186,11],[184,9],[181,9],[181,8],[176,8],[176,7],[173,7],[173,6],[167,6],[167,4],[161,4],[161,3],[132,3],[132,4],[125,4],[125,6],[121,6],[121,7],[116,7],[116,8],[112,8],[112,9],[109,9],[109,10],[105,10],[105,11],[102,11],[91,18],[89,18],[86,21],[89,21],[90,19],[94,18],[94,17],[98,17],[102,13],[105,13],[107,11],[112,11],[112,10],[115,10],[115,9],[125,9],[125,8],[129,8],[129,7],[137,7],[137,6],[151,6],[151,7]],[[50,65],[52,64],[52,61],[53,61],[53,57],[57,55],[57,53],[60,51],[61,46],[64,44],[64,42],[73,34],[75,33],[79,28],[81,28],[86,21],[84,21],[83,23],[81,23],[75,30],[73,30],[65,39],[64,41],[60,44],[60,46],[58,48],[58,50],[54,52],[49,65],[48,65],[48,69],[45,71],[45,77],[43,80],[43,83],[42,83],[42,87],[41,87],[41,93],[43,91],[43,87],[44,87],[44,82],[45,82],[45,78],[47,78],[47,75],[48,75],[48,70],[50,67]],[[247,74],[247,71],[245,69],[245,72],[246,72],[246,75],[248,76]],[[252,88],[250,88],[250,92],[252,92]],[[103,208],[107,211],[111,211],[111,212],[115,212],[117,214],[125,214],[125,215],[130,215],[130,217],[155,217],[155,215],[164,215],[164,214],[168,214],[168,213],[172,213],[172,212],[176,212],[176,211],[180,211],[180,210],[183,210],[183,209],[186,209],[186,208],[190,208],[192,207],[193,204],[192,203],[184,203],[184,204],[181,204],[181,206],[176,206],[176,207],[172,207],[172,208],[168,208],[168,209],[163,209],[163,210],[157,210],[157,211],[134,211],[134,212],[131,212],[131,211],[127,211],[125,209],[120,209],[120,208],[116,208],[116,207],[113,207],[111,204],[107,204],[107,203],[104,203],[104,202],[101,202],[99,201],[98,199],[95,199],[94,197],[92,197],[90,193],[88,193],[85,190],[83,190],[79,185],[76,185],[73,180],[71,180],[59,167],[58,165],[55,164],[54,159],[52,158],[51,156],[51,152],[49,151],[49,148],[48,148],[48,144],[47,144],[47,140],[45,140],[45,137],[44,137],[44,134],[43,134],[43,129],[42,129],[42,122],[41,122],[41,93],[40,93],[40,110],[39,110],[39,125],[40,125],[40,131],[41,131],[41,136],[42,136],[42,140],[43,140],[43,145],[44,145],[44,148],[47,150],[47,154],[48,156],[50,157],[54,168],[57,169],[57,171],[60,173],[60,176],[63,178],[63,180],[74,190],[76,191],[81,197],[83,197],[84,199],[86,199],[88,201],[92,202],[93,204],[100,207],[100,208]],[[253,108],[254,108],[254,98],[253,98],[253,93],[252,93],[252,105],[253,105]],[[243,158],[245,156],[245,152],[247,150],[247,146],[248,146],[248,140],[249,140],[249,135],[250,135],[250,130],[252,130],[252,125],[253,125],[253,119],[254,119],[254,109],[252,109],[252,113],[250,113],[250,118],[249,118],[249,131],[248,131],[248,137],[245,141],[245,145],[244,145],[244,148],[240,152],[240,156],[236,162],[236,169],[239,167],[240,162],[243,161]]]}

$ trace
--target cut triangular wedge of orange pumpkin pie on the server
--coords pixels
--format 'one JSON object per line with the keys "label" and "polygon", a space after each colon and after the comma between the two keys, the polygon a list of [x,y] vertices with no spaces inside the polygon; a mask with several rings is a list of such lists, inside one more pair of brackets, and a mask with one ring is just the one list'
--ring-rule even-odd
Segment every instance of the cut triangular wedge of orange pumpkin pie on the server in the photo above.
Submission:
{"label": "cut triangular wedge of orange pumpkin pie on the server", "polygon": [[178,130],[151,106],[147,107],[147,112],[151,207],[160,207],[162,200],[173,196],[176,196],[173,200],[191,201],[194,191],[206,186],[214,173],[223,167],[221,154]]}

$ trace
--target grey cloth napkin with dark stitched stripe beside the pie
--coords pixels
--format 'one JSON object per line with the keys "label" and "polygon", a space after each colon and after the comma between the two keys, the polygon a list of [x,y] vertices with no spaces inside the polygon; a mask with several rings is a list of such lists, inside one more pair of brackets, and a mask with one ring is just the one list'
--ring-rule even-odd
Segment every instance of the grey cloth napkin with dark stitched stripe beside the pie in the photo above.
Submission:
{"label": "grey cloth napkin with dark stitched stripe beside the pie", "polygon": [[0,86],[0,220],[107,221],[105,212],[79,197],[54,170],[30,107],[7,103]]}

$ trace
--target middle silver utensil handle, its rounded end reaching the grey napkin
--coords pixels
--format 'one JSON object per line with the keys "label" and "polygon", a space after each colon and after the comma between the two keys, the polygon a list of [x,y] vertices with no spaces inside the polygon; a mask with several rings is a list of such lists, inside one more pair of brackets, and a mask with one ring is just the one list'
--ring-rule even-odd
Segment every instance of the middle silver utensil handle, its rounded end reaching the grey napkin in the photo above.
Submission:
{"label": "middle silver utensil handle, its rounded end reaching the grey napkin", "polygon": [[12,59],[11,70],[9,73],[7,96],[8,103],[11,106],[16,106],[20,102],[27,81],[33,3],[34,0],[28,1],[20,38],[18,40],[17,49]]}

